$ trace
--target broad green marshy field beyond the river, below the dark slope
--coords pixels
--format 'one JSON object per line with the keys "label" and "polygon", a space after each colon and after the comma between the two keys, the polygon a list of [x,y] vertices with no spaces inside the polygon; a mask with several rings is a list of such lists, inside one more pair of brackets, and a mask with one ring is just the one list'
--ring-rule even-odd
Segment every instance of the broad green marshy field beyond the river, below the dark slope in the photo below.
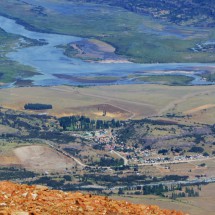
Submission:
{"label": "broad green marshy field beyond the river, below the dark slope", "polygon": [[[59,4],[56,1],[50,2]],[[16,18],[33,30],[97,38],[113,45],[117,54],[126,56],[134,62],[214,62],[213,53],[195,53],[190,50],[196,43],[213,37],[210,29],[207,31],[203,29],[201,32],[194,28],[187,37],[181,39],[163,35],[160,31],[166,27],[165,24],[158,24],[149,17],[121,8],[88,3],[65,3],[75,7],[78,12],[65,15],[44,8],[38,12],[36,6],[17,0],[3,0],[0,14]],[[86,7],[93,9],[85,13]],[[153,29],[158,34],[145,31],[145,28]],[[177,29],[177,26],[175,28]],[[180,32],[183,32],[183,29],[179,28],[177,32],[179,36]]]}

